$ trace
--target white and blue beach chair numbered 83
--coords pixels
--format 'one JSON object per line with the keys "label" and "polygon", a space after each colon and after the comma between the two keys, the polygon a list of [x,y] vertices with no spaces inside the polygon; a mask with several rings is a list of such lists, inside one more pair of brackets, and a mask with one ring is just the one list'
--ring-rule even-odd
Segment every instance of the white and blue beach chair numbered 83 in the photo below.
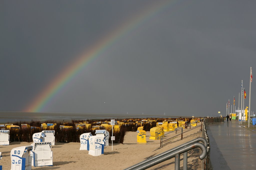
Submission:
{"label": "white and blue beach chair numbered 83", "polygon": [[104,142],[103,136],[90,136],[89,137],[90,150],[89,154],[92,156],[99,156],[104,153]]}

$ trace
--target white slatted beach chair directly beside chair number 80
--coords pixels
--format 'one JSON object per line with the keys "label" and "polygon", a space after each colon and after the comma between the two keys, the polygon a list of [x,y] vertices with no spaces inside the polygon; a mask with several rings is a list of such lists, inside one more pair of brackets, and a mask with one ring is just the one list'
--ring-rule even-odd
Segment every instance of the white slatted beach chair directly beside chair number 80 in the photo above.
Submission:
{"label": "white slatted beach chair directly beside chair number 80", "polygon": [[32,143],[32,166],[52,166],[51,142]]}

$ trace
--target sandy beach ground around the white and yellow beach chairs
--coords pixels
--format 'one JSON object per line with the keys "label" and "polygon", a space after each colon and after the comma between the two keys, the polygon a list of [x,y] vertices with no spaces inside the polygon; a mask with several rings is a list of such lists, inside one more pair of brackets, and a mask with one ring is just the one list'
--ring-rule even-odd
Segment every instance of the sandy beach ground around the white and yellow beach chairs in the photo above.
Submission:
{"label": "sandy beach ground around the white and yellow beach chairs", "polygon": [[[193,130],[186,133],[188,129],[184,129],[182,140],[180,139],[180,136],[175,137],[172,140],[164,143],[162,148],[159,148],[159,140],[149,139],[150,132],[146,132],[146,144],[137,144],[137,132],[127,132],[123,144],[114,143],[112,151],[112,144],[110,143],[110,146],[104,147],[104,154],[100,156],[92,156],[88,154],[89,151],[87,150],[79,150],[80,143],[78,142],[55,142],[55,146],[52,146],[53,166],[32,166],[32,169],[102,169],[106,167],[113,167],[113,169],[124,169],[194,138],[201,137],[201,128],[191,127]],[[173,132],[166,135],[164,139],[175,135],[175,132]],[[13,148],[29,146],[31,143],[32,142],[11,142],[10,145],[1,145],[0,152],[2,152],[3,158],[0,160],[0,165],[3,166],[3,170],[11,168],[10,151]],[[188,169],[201,168],[201,162],[198,157],[200,153],[201,152],[199,149],[194,149],[193,151],[188,152]],[[180,156],[180,159],[180,167],[182,167],[183,155]],[[150,169],[174,169],[174,158],[162,162]]]}

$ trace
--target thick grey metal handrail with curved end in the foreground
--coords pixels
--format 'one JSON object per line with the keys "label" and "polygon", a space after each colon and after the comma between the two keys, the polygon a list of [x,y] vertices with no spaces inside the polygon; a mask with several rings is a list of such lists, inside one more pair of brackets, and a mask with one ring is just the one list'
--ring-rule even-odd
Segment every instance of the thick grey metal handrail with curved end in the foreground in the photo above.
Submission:
{"label": "thick grey metal handrail with curved end in the foreground", "polygon": [[[202,141],[204,144],[199,143],[198,141]],[[204,138],[196,138],[187,143],[184,143],[174,149],[170,149],[164,153],[159,155],[153,156],[152,158],[146,159],[140,163],[137,163],[133,166],[126,168],[125,170],[132,170],[132,169],[147,169],[150,168],[158,163],[164,162],[170,158],[175,157],[175,169],[179,169],[180,164],[180,154],[184,153],[183,159],[183,169],[187,168],[187,151],[192,150],[194,148],[200,148],[201,154],[199,155],[200,160],[203,160],[207,154],[206,146],[207,141]]]}

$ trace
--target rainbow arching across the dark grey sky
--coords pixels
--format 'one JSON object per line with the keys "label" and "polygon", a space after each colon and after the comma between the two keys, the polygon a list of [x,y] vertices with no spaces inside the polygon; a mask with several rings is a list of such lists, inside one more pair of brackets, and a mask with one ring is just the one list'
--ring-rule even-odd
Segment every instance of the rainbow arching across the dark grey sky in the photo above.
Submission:
{"label": "rainbow arching across the dark grey sky", "polygon": [[133,29],[137,28],[143,22],[151,19],[159,12],[163,11],[170,5],[176,4],[178,1],[156,1],[154,4],[148,6],[140,14],[135,15],[116,28],[107,36],[103,37],[101,41],[94,44],[90,50],[85,51],[82,55],[71,63],[67,68],[61,72],[56,79],[51,82],[25,109],[31,112],[40,112],[50,103],[50,100],[62,89],[70,80],[79,73],[89,62],[95,57],[102,54],[105,49],[109,48],[113,43],[121,39]]}

